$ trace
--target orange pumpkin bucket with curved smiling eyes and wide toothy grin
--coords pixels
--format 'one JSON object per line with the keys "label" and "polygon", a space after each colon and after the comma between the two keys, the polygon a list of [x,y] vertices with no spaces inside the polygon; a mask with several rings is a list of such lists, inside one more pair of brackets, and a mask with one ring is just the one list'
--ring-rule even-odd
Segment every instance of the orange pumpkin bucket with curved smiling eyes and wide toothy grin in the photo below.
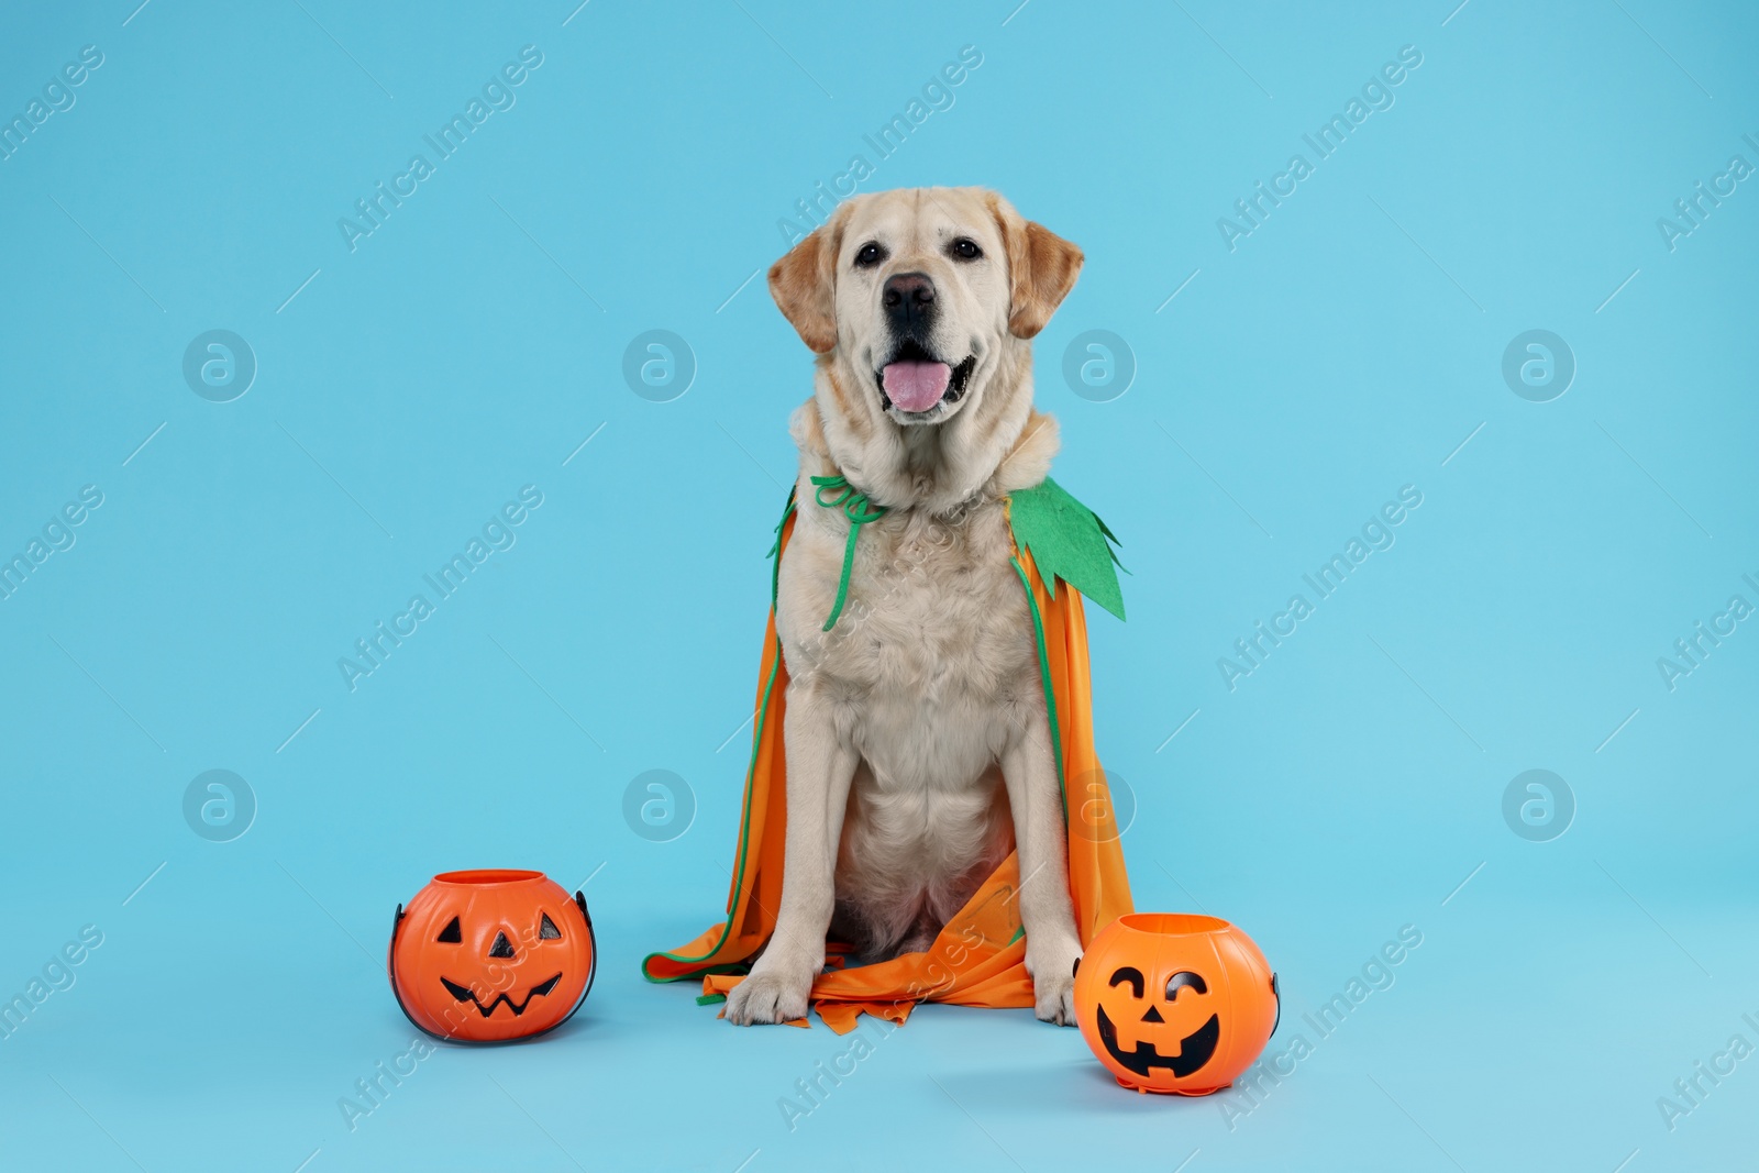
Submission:
{"label": "orange pumpkin bucket with curved smiling eyes and wide toothy grin", "polygon": [[1119,916],[1077,962],[1082,1038],[1138,1092],[1228,1087],[1265,1050],[1279,1016],[1277,974],[1249,936],[1215,916]]}

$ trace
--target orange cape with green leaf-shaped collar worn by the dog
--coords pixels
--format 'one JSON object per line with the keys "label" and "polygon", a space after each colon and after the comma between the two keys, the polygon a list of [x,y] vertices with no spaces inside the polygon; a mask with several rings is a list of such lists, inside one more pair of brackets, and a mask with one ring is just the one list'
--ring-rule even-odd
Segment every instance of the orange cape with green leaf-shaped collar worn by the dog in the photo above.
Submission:
{"label": "orange cape with green leaf-shaped collar worn by the dog", "polygon": [[[843,484],[841,478],[830,482]],[[848,496],[846,492],[844,498]],[[843,505],[844,498],[823,501],[820,496],[820,503]],[[857,499],[860,508],[865,508],[865,501]],[[1129,878],[1119,846],[1120,828],[1112,811],[1105,772],[1094,754],[1087,623],[1082,614],[1082,591],[1085,591],[1119,619],[1124,617],[1113,572],[1117,557],[1108,545],[1115,538],[1105,522],[1050,478],[1010,494],[1004,508],[1013,535],[1013,568],[1020,575],[1033,612],[1050,740],[1062,781],[1075,927],[1082,946],[1087,946],[1094,934],[1131,911]],[[853,533],[858,529],[855,522],[862,521],[855,506],[850,508],[850,519],[853,550]],[[776,930],[776,909],[781,907],[783,839],[788,818],[783,753],[788,668],[776,635],[774,584],[793,522],[795,499],[790,494],[788,510],[776,528],[776,547],[770,550],[774,556],[770,614],[758,668],[756,728],[746,772],[744,812],[726,920],[677,950],[649,953],[642,960],[642,973],[651,981],[681,981],[700,974],[704,988],[700,1002],[725,1001],[726,992],[744,980],[751,958]],[[923,953],[902,953],[871,965],[843,967],[848,950],[837,944],[827,946],[828,965],[813,980],[811,992],[818,1015],[837,1034],[848,1034],[862,1011],[902,1024],[911,1008],[923,1001],[959,1006],[1033,1006],[1033,978],[1025,971],[1025,930],[1020,925],[1020,902],[1015,899],[1018,885],[1018,855],[1010,853]],[[800,1020],[797,1025],[807,1024]]]}

